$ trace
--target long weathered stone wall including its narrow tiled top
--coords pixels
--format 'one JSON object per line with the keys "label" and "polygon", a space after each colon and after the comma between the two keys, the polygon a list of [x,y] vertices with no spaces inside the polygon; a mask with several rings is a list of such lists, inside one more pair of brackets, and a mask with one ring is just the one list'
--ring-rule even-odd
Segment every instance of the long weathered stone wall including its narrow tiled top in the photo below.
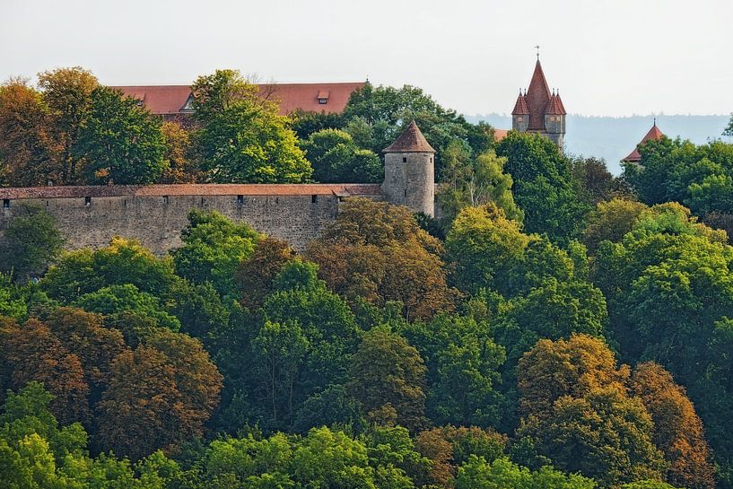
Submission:
{"label": "long weathered stone wall including its narrow tiled top", "polygon": [[68,248],[100,248],[113,236],[156,254],[180,245],[191,209],[215,210],[303,249],[349,196],[381,199],[379,185],[153,185],[0,188],[0,232],[33,203],[57,219]]}

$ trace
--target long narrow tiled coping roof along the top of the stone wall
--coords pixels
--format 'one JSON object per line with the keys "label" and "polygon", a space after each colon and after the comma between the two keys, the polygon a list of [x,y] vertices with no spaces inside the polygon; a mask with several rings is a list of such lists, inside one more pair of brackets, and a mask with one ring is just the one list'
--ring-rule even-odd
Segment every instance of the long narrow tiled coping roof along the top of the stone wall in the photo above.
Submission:
{"label": "long narrow tiled coping roof along the top of the stone wall", "polygon": [[105,196],[378,196],[370,183],[171,184],[0,188],[0,198],[74,198]]}

